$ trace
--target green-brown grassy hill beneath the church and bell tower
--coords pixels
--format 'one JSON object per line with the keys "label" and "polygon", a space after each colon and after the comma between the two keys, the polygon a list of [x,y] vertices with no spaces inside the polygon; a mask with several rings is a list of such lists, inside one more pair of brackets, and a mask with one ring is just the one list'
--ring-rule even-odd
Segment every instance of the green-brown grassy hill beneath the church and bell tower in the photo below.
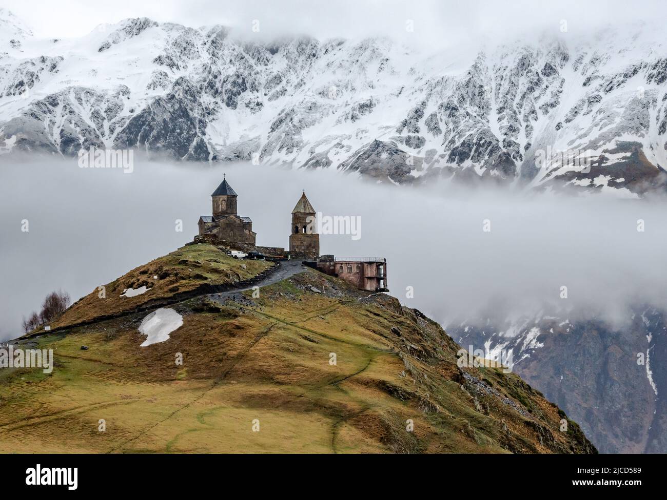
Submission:
{"label": "green-brown grassy hill beneath the church and bell tower", "polygon": [[[0,452],[595,452],[518,376],[458,368],[459,346],[417,310],[289,265],[257,298],[223,292],[276,265],[191,245],[85,296],[23,340],[53,349],[51,374],[0,370]],[[157,307],[183,325],[140,347]]]}

